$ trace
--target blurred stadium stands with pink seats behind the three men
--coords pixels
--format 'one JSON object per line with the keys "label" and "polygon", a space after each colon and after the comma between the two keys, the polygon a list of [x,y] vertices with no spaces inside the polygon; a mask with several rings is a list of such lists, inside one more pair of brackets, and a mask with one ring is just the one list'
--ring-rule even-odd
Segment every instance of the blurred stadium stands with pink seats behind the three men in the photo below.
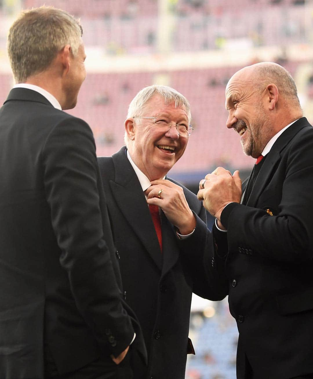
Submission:
{"label": "blurred stadium stands with pink seats behind the three men", "polygon": [[[90,125],[97,155],[112,155],[124,144],[135,94],[163,84],[187,97],[194,127],[169,176],[195,193],[217,166],[239,169],[245,179],[254,160],[225,126],[225,85],[241,67],[260,61],[290,71],[313,122],[312,0],[0,0],[0,104],[13,85],[9,25],[21,9],[44,4],[81,19],[87,78],[69,112]],[[188,358],[186,379],[234,379],[237,327],[227,300],[195,297],[190,328],[196,355]]]}

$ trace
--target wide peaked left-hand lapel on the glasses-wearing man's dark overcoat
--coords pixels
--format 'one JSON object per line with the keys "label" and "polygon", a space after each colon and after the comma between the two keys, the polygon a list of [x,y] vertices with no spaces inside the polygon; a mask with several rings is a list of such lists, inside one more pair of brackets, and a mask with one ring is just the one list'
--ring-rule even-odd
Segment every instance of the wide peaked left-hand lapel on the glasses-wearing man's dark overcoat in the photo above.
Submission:
{"label": "wide peaked left-hand lapel on the glasses-wearing man's dark overcoat", "polygon": [[127,159],[125,147],[115,153],[112,159],[115,166],[115,180],[110,180],[110,188],[116,204],[155,264],[162,270],[163,255],[157,233],[137,175]]}

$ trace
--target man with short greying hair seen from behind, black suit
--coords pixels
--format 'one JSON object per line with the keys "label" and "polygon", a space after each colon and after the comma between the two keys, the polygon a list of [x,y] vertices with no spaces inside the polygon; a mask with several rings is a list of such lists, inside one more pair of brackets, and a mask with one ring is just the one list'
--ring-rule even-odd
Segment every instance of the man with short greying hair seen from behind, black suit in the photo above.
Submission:
{"label": "man with short greying hair seen from behind, black suit", "polygon": [[62,111],[85,79],[81,36],[52,7],[22,12],[9,31],[18,84],[0,109],[2,379],[130,379],[129,345],[146,356],[121,297],[93,134]]}

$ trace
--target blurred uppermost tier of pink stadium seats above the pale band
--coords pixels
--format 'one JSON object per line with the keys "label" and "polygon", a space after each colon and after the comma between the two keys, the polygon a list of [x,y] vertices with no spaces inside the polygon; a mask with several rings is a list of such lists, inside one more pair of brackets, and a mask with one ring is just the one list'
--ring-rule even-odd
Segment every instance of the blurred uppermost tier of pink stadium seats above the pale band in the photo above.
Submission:
{"label": "blurred uppermost tier of pink stadium seats above the pale band", "polygon": [[[24,8],[42,5],[24,0]],[[55,7],[81,17],[87,45],[107,53],[157,52],[157,0],[54,0]],[[171,0],[172,50],[222,49],[225,45],[288,45],[309,41],[303,20],[305,2],[299,0]],[[269,33],[270,31],[270,33]]]}

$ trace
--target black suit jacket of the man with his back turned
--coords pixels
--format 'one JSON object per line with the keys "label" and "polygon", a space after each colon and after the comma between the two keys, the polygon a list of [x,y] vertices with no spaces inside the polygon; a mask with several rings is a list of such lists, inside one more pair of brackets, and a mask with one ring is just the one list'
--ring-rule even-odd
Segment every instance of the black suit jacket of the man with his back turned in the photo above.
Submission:
{"label": "black suit jacket of the man with his back turned", "polygon": [[90,128],[15,88],[0,109],[0,157],[0,377],[42,378],[44,344],[60,374],[117,356],[135,320]]}

